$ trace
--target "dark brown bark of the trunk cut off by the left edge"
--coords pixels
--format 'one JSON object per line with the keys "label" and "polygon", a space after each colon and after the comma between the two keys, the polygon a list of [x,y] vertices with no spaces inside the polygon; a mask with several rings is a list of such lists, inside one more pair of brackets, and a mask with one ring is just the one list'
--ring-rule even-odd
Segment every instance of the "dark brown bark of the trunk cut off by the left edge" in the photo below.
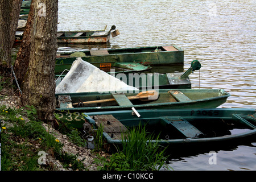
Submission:
{"label": "dark brown bark of the trunk cut off by the left edge", "polygon": [[1,0],[0,3],[0,64],[11,66],[11,42],[10,42],[10,10],[11,0]]}

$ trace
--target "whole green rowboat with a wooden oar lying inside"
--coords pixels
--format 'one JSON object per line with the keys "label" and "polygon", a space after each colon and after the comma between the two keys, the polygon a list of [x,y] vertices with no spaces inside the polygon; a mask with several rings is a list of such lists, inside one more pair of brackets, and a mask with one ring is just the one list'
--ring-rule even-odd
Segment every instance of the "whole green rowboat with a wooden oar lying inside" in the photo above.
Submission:
{"label": "whole green rowboat with a wooden oar lying inside", "polygon": [[55,94],[56,110],[70,113],[135,109],[216,108],[230,96],[223,89],[159,89]]}

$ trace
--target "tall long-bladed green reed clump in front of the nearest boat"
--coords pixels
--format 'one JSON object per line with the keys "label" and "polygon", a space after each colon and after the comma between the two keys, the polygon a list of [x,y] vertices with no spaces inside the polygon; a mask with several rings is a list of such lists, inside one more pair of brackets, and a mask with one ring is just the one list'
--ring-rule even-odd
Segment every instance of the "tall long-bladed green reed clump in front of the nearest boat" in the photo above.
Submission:
{"label": "tall long-bladed green reed clump in front of the nearest boat", "polygon": [[[154,134],[149,134],[145,126],[132,129],[122,137],[122,152],[134,170],[159,170],[166,162],[166,148],[152,142]],[[155,140],[158,141],[159,135]]]}

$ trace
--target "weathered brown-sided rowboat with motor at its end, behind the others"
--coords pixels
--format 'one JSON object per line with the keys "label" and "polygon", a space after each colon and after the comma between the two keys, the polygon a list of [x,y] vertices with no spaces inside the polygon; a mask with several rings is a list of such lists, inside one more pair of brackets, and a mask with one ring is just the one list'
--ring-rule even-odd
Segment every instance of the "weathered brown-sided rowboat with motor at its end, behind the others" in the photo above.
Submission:
{"label": "weathered brown-sided rowboat with motor at its end, behind the others", "polygon": [[[105,28],[106,29],[106,28]],[[119,31],[115,30],[112,26],[109,31],[96,30],[96,31],[58,31],[57,43],[58,44],[104,44],[109,43],[110,35],[117,36]],[[114,31],[112,31],[114,30]],[[18,32],[15,35],[15,42],[20,43],[23,38],[23,32]]]}

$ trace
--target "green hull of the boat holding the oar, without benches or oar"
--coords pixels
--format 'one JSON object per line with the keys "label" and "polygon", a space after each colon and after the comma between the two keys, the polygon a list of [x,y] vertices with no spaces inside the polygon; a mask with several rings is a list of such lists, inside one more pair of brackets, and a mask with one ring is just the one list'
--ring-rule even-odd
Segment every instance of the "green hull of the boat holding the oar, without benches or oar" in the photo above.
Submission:
{"label": "green hull of the boat holding the oar, without benches or oar", "polygon": [[[133,105],[118,105],[117,102],[107,102],[97,105],[88,105],[82,107],[65,108],[64,106],[59,106],[56,110],[71,113],[88,113],[92,111],[115,111],[115,110],[130,110],[131,107],[135,109],[209,109],[216,108],[224,104],[227,98],[230,96],[228,92],[222,89],[175,89],[173,91],[179,91],[191,98],[189,101],[176,101],[169,93],[170,89],[159,89],[158,100],[154,101],[139,101],[134,100]],[[141,91],[141,90],[139,90]],[[143,91],[143,90],[142,90]],[[133,92],[133,93],[129,93]],[[129,90],[125,95],[135,96],[138,92]],[[116,92],[124,93],[124,92]],[[111,92],[98,93],[98,92],[88,92],[88,93],[63,93],[55,94],[58,100],[59,96],[68,95],[71,97],[72,102],[80,101],[93,101],[100,99],[113,98]],[[58,105],[60,102],[57,103]]]}

